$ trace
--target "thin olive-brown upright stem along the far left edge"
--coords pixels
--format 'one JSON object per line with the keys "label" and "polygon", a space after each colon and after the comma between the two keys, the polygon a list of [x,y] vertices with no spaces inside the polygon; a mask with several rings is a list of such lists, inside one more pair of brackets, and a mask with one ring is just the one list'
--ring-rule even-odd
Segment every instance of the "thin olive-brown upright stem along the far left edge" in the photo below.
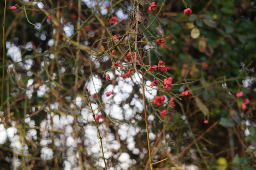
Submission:
{"label": "thin olive-brown upright stem along the far left edge", "polygon": [[[4,59],[5,59],[5,13],[6,13],[6,0],[4,2],[4,22],[3,22],[3,66],[4,66]],[[4,67],[3,67],[3,74],[2,74],[2,86],[1,86],[1,108],[4,109]]]}

